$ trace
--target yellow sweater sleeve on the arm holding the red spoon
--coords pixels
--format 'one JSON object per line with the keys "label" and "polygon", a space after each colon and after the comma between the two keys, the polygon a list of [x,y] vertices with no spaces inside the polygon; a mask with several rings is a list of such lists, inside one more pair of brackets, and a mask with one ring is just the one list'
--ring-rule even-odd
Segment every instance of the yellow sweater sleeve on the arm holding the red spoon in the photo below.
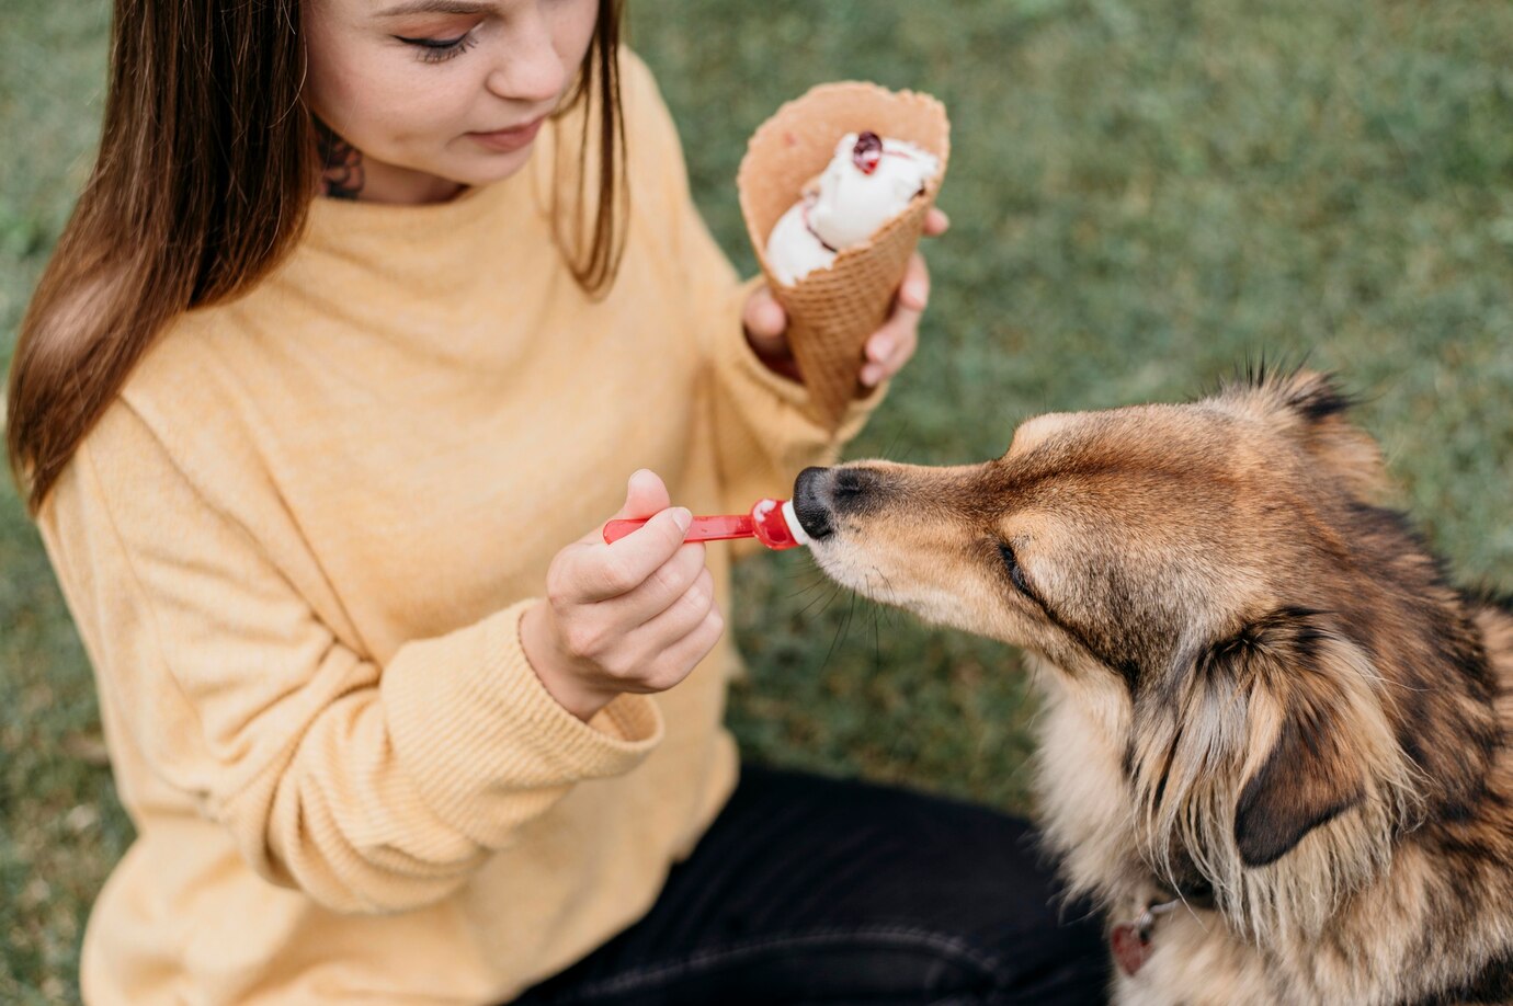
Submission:
{"label": "yellow sweater sleeve on the arm holding the red spoon", "polygon": [[127,407],[42,514],[124,738],[266,879],[342,912],[439,900],[573,784],[661,738],[645,696],[590,723],[520,649],[513,604],[378,666],[343,644],[242,523]]}

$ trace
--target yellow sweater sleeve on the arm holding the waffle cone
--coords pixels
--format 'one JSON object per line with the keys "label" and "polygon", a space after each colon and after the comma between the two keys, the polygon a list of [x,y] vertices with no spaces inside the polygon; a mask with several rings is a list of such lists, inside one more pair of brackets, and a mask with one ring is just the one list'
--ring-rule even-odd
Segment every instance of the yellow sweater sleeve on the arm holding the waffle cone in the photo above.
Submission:
{"label": "yellow sweater sleeve on the arm holding the waffle cone", "polygon": [[[638,61],[628,67],[632,98],[640,98],[640,123],[631,142],[655,147],[670,207],[673,256],[682,263],[691,309],[690,322],[707,360],[720,481],[725,505],[749,507],[753,499],[787,495],[808,464],[831,464],[843,443],[861,431],[887,393],[879,387],[850,405],[837,428],[806,411],[803,384],[781,377],[756,357],[741,328],[746,300],[763,277],[741,281],[720,250],[688,189],[682,145],[657,85]],[[734,192],[732,192],[734,198]]]}

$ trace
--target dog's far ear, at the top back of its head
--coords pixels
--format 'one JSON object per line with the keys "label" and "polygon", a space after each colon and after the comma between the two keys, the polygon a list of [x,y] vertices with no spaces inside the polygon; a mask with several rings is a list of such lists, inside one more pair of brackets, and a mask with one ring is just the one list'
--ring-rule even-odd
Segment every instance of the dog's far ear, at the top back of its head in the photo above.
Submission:
{"label": "dog's far ear, at the top back of its head", "polygon": [[1381,451],[1369,434],[1350,422],[1354,399],[1339,389],[1334,377],[1313,371],[1253,369],[1244,383],[1219,392],[1219,399],[1238,404],[1292,439],[1325,474],[1365,501],[1380,502],[1387,493]]}

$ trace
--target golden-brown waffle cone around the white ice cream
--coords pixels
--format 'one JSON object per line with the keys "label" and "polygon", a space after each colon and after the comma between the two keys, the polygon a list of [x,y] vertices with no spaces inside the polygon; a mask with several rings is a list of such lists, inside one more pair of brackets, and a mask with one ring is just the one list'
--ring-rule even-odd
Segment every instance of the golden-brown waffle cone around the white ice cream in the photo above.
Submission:
{"label": "golden-brown waffle cone around the white ice cream", "polygon": [[[825,171],[841,136],[864,130],[923,147],[940,159],[940,171],[868,241],[841,250],[829,269],[816,269],[791,286],[778,281],[767,263],[767,236],[803,186]],[[949,157],[950,121],[940,101],[862,82],[812,88],[779,107],[746,145],[735,175],[741,216],[767,286],[788,312],[788,342],[812,411],[829,425],[867,395],[858,381],[862,346],[888,318]]]}

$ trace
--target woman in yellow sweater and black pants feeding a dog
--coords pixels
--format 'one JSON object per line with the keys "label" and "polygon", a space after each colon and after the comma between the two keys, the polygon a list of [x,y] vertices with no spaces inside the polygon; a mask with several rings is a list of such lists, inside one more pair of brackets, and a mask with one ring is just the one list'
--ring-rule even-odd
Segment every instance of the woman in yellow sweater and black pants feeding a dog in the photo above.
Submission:
{"label": "woman in yellow sweater and black pants feeding a dog", "polygon": [[[88,1001],[1098,985],[1014,821],[735,787],[726,558],[682,543],[688,507],[782,495],[873,401],[805,418],[617,26],[118,3],[8,427],[138,829]],[[915,263],[862,383],[924,295]],[[652,520],[605,546],[617,504]]]}

